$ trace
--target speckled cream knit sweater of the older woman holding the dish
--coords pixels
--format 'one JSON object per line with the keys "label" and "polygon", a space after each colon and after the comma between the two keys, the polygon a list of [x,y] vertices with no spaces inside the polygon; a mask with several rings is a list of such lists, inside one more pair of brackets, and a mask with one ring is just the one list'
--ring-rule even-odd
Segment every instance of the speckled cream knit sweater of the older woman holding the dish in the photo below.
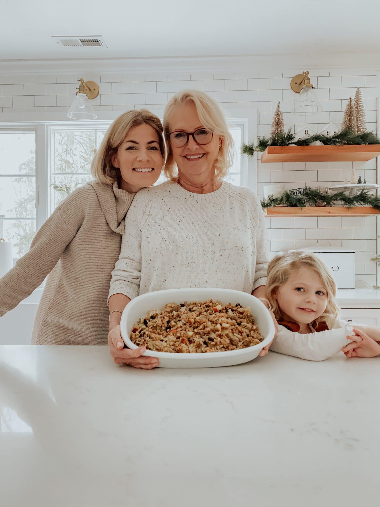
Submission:
{"label": "speckled cream knit sweater of the older woman holding the dish", "polygon": [[166,182],[140,190],[125,220],[109,297],[167,288],[251,293],[265,285],[267,229],[257,195],[223,182],[209,194]]}

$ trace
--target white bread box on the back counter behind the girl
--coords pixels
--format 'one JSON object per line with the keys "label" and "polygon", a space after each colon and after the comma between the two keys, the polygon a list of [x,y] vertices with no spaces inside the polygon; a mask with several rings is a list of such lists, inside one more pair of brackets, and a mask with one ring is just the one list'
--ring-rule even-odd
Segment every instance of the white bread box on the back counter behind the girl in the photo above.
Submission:
{"label": "white bread box on the back counter behind the girl", "polygon": [[338,246],[308,246],[331,269],[336,288],[355,288],[355,250]]}

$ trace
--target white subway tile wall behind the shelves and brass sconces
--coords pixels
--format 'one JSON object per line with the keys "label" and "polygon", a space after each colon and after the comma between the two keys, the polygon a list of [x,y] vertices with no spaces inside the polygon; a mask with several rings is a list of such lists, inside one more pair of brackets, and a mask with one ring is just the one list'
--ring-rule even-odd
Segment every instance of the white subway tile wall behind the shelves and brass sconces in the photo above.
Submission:
{"label": "white subway tile wall behind the shelves and brass sconces", "polygon": [[[163,108],[167,100],[179,90],[203,90],[223,107],[256,107],[258,135],[268,135],[273,113],[280,101],[285,128],[297,131],[307,124],[320,131],[332,122],[338,128],[343,120],[349,97],[360,87],[369,130],[376,132],[377,96],[376,76],[370,71],[337,69],[311,71],[323,112],[308,117],[292,114],[298,97],[290,89],[290,80],[299,69],[274,73],[246,71],[201,71],[195,73],[156,73],[87,76],[99,84],[99,96],[92,101],[95,111],[126,111],[129,108]],[[0,113],[66,112],[71,105],[77,75],[37,75],[0,77]],[[257,193],[272,183],[284,183],[285,188],[304,185],[330,186],[350,178],[355,169],[357,177],[376,183],[376,160],[368,162],[300,162],[269,163],[257,161]],[[376,282],[376,217],[295,217],[267,218],[271,255],[276,251],[303,246],[331,244],[354,248],[355,279],[357,284]]]}

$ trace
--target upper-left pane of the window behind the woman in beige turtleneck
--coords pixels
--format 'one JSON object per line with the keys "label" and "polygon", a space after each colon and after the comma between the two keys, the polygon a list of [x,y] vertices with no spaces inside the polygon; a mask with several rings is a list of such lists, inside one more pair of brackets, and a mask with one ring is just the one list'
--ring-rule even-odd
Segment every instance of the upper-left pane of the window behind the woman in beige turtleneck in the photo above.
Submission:
{"label": "upper-left pane of the window behind the woman in beige turtleneck", "polygon": [[94,150],[94,130],[55,132],[53,172],[90,172]]}

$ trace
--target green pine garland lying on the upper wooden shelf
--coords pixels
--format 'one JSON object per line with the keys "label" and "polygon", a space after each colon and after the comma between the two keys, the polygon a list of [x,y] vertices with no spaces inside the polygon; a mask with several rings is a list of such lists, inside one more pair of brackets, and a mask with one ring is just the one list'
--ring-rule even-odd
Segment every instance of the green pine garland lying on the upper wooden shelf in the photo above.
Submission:
{"label": "green pine garland lying on the upper wooden shelf", "polygon": [[324,134],[315,134],[302,139],[295,139],[295,134],[290,127],[286,132],[279,132],[275,136],[263,136],[243,144],[241,151],[243,155],[252,157],[255,152],[264,152],[269,146],[310,146],[315,141],[320,141],[325,146],[341,146],[342,144],[380,144],[380,139],[373,132],[354,134],[350,129],[341,130],[331,137]]}

